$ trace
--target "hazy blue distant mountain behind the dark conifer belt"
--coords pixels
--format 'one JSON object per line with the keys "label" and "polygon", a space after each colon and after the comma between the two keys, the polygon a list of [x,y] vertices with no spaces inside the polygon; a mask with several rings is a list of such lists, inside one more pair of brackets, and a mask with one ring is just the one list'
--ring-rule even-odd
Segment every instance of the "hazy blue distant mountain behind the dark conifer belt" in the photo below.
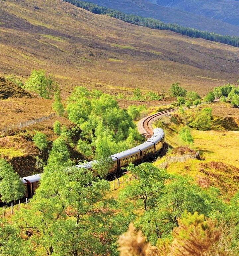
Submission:
{"label": "hazy blue distant mountain behind the dark conifer belt", "polygon": [[159,19],[166,23],[176,23],[222,35],[239,36],[238,2],[234,0],[209,1],[210,4],[208,1],[192,0],[89,0],[89,2],[128,14]]}

